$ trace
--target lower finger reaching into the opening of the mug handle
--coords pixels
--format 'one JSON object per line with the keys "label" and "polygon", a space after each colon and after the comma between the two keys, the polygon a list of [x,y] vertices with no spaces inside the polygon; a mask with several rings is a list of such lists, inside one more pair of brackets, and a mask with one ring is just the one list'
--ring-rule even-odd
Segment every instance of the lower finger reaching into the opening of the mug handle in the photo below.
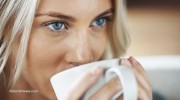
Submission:
{"label": "lower finger reaching into the opening of the mug handle", "polygon": [[90,100],[110,100],[121,89],[119,78],[115,77],[96,91],[96,93],[90,97]]}

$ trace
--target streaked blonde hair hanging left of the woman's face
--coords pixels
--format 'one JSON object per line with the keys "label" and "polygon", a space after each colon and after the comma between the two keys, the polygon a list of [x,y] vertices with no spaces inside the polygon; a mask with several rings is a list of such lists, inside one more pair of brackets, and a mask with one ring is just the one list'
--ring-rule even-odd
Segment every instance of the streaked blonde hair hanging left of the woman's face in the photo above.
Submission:
{"label": "streaked blonde hair hanging left of the woman's face", "polygon": [[[0,4],[0,73],[1,78],[9,73],[8,83],[9,81],[14,83],[19,77],[26,58],[37,0],[2,0]],[[7,61],[17,41],[20,43],[18,52],[15,54],[17,55],[15,63],[8,69]]]}

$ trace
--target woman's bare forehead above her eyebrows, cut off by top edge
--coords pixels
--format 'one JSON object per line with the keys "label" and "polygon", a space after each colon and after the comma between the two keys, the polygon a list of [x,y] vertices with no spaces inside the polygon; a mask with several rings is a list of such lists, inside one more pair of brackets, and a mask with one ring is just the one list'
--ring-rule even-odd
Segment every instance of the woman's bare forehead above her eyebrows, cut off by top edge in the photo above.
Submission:
{"label": "woman's bare forehead above her eyebrows, cut off by top edge", "polygon": [[38,13],[61,12],[77,18],[97,16],[112,8],[111,0],[41,0]]}

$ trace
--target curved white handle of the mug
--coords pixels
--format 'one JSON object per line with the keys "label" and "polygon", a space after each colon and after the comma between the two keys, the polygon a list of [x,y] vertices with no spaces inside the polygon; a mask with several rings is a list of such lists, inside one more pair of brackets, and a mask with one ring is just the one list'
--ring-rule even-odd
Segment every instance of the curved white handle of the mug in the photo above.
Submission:
{"label": "curved white handle of the mug", "polygon": [[125,66],[112,67],[106,70],[105,80],[108,82],[113,77],[118,76],[123,89],[113,96],[113,100],[116,100],[123,94],[123,100],[137,100],[138,90],[136,77],[133,71]]}

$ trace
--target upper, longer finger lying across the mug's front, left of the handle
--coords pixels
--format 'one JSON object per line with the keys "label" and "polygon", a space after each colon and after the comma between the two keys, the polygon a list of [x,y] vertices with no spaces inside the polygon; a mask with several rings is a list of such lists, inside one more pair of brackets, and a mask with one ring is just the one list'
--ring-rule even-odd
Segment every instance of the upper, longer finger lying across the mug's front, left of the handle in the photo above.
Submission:
{"label": "upper, longer finger lying across the mug's front, left of the handle", "polygon": [[103,74],[103,68],[95,67],[82,75],[67,90],[64,100],[79,100],[82,95],[91,87]]}

